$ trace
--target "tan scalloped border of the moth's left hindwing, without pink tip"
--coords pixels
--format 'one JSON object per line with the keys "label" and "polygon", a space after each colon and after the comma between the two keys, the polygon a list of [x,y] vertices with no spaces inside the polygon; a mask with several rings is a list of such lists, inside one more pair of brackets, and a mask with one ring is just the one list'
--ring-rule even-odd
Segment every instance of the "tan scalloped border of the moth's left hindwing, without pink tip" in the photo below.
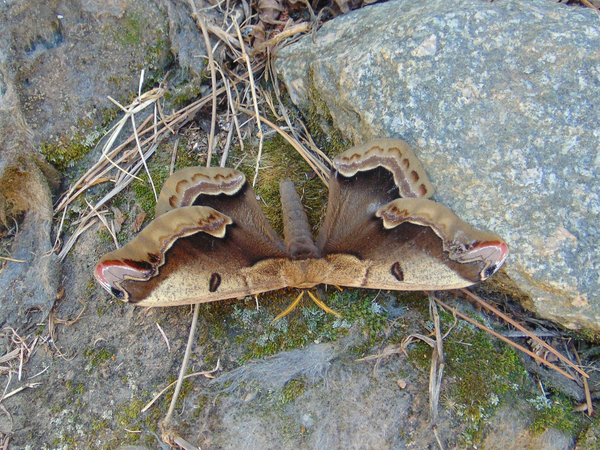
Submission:
{"label": "tan scalloped border of the moth's left hindwing, without pink tip", "polygon": [[189,206],[200,194],[217,196],[237,193],[246,177],[242,172],[224,167],[186,167],[173,172],[164,183],[155,209],[155,217],[174,208]]}

